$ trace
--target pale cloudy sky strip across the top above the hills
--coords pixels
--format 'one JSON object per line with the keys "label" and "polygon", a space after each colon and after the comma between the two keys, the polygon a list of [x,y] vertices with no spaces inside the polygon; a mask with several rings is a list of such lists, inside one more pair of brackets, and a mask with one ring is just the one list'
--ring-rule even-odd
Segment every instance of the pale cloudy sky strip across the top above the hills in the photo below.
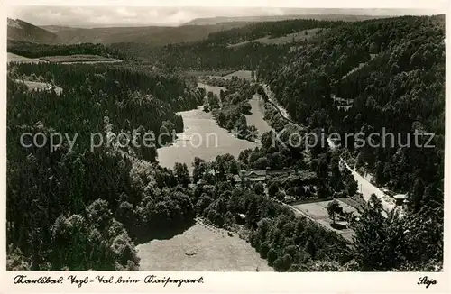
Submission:
{"label": "pale cloudy sky strip across the top above the hills", "polygon": [[275,7],[119,7],[119,6],[9,6],[8,17],[36,25],[129,26],[179,25],[195,18],[284,14],[437,14],[437,11],[400,9],[290,9]]}

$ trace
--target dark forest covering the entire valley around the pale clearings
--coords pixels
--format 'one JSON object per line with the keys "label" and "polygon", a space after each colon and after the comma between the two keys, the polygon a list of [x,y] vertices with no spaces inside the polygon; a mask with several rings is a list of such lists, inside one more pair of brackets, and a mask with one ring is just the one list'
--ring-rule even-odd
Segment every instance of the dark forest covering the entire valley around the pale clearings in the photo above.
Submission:
{"label": "dark forest covering the entire valley around the pale clearings", "polygon": [[[111,47],[10,41],[12,52],[27,57],[97,54],[125,62],[8,65],[8,269],[137,270],[135,243],[173,236],[202,217],[242,233],[276,271],[440,271],[444,23],[442,15],[289,20],[224,32],[200,28],[173,44],[149,44],[143,40],[147,32],[136,32],[132,42]],[[254,41],[311,29],[318,33],[290,43]],[[245,43],[230,46],[238,42]],[[252,70],[252,78],[218,76],[239,69]],[[190,77],[190,71],[204,77]],[[212,72],[216,76],[207,77]],[[27,81],[52,87],[31,91]],[[226,90],[205,93],[198,81]],[[212,111],[212,124],[247,133],[244,115],[254,111],[248,102],[255,94],[262,96],[264,119],[273,130],[259,136],[258,147],[240,149],[236,159],[230,153],[210,162],[193,158],[192,178],[187,164],[176,163],[173,170],[158,164],[157,149],[170,138],[144,147],[118,135],[143,142],[143,133],[183,132],[177,112],[201,105]],[[62,134],[55,149],[43,141],[51,133]],[[93,133],[104,139],[95,148]],[[317,142],[306,149],[306,133],[337,133],[342,146]],[[364,145],[354,144],[357,133]],[[392,139],[389,134],[382,141],[384,133]],[[379,196],[364,198],[353,168],[378,188],[407,194],[407,204],[385,211]],[[257,176],[246,178],[247,172]],[[295,202],[332,198],[354,203],[359,213],[345,214],[342,207],[351,237],[336,229],[335,216],[335,226],[327,226],[294,209]]]}

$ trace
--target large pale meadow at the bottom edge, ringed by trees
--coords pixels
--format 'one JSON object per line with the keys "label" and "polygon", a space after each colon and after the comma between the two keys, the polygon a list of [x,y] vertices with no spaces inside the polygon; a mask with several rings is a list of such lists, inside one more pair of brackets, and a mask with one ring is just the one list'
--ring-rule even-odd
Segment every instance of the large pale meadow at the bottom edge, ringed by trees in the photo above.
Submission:
{"label": "large pale meadow at the bottom edge, ringed by trees", "polygon": [[251,244],[200,222],[169,240],[136,248],[140,271],[273,271]]}

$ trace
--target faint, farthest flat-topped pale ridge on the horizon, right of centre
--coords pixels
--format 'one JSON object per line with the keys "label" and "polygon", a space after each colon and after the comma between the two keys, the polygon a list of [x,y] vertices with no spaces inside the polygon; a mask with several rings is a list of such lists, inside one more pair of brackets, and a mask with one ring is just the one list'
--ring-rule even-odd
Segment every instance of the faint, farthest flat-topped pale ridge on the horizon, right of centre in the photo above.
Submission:
{"label": "faint, farthest flat-topped pale ridge on the horizon, right of centre", "polygon": [[357,22],[375,18],[386,18],[387,16],[378,15],[352,15],[352,14],[291,14],[291,15],[259,15],[259,16],[217,16],[196,18],[183,25],[211,25],[218,23],[260,23],[260,22],[279,22],[293,19],[315,19],[325,21],[345,21]]}

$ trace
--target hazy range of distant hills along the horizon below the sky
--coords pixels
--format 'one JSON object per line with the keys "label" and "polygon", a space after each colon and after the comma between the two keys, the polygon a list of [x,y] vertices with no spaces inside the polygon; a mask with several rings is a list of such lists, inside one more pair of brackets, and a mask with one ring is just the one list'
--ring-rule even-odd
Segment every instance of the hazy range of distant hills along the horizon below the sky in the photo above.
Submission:
{"label": "hazy range of distant hills along the horizon below the sky", "polygon": [[80,28],[60,25],[35,26],[22,20],[8,19],[8,39],[36,43],[78,44],[84,42],[112,44],[143,43],[162,46],[171,43],[201,41],[208,35],[243,28],[253,23],[268,23],[295,19],[326,21],[362,21],[382,16],[351,14],[287,14],[271,16],[240,16],[198,18],[180,26],[123,26]]}

